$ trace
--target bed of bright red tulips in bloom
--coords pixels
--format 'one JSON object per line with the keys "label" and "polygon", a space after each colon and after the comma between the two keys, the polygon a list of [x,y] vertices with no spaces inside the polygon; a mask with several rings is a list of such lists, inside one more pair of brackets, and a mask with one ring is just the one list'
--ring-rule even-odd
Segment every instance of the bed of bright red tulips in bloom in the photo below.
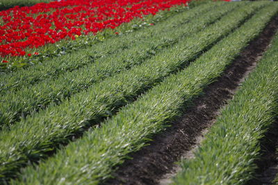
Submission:
{"label": "bed of bright red tulips in bloom", "polygon": [[158,10],[187,1],[70,0],[11,8],[0,12],[0,56],[25,56],[27,47],[41,47],[64,38],[75,39],[76,35],[114,29],[135,17],[155,15]]}

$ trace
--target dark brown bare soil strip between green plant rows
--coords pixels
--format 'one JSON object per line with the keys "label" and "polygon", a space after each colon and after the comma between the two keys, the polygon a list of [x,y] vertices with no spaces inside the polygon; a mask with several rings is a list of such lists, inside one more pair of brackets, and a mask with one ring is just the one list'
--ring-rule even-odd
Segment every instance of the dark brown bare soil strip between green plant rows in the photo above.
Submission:
{"label": "dark brown bare soil strip between green plant rows", "polygon": [[131,154],[131,159],[126,160],[115,171],[115,178],[108,179],[104,184],[167,183],[167,178],[172,177],[171,174],[177,170],[174,162],[181,157],[193,157],[193,150],[202,140],[202,134],[211,127],[220,108],[227,104],[227,100],[233,97],[240,83],[254,69],[277,28],[278,17],[275,17],[259,37],[250,42],[240,56],[227,67],[222,77],[211,83],[204,94],[195,99],[193,105],[171,123],[172,127],[156,134],[149,145]]}

